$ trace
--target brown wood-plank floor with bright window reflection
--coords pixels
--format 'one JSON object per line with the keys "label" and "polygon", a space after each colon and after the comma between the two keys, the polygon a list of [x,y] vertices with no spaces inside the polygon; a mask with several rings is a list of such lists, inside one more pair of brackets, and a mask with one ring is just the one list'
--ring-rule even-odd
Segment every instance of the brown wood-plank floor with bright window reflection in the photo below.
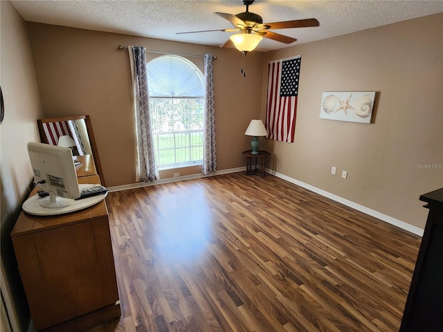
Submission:
{"label": "brown wood-plank floor with bright window reflection", "polygon": [[398,331],[420,237],[275,176],[107,197],[120,320],[91,331]]}

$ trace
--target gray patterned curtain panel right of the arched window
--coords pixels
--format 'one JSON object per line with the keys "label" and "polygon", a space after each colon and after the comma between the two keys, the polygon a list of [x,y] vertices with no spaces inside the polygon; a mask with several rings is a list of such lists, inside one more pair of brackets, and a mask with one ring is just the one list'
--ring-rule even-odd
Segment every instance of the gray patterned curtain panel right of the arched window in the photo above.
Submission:
{"label": "gray patterned curtain panel right of the arched window", "polygon": [[204,57],[205,69],[205,119],[203,138],[203,165],[204,174],[217,170],[215,156],[215,109],[214,109],[214,74],[213,56],[206,53]]}

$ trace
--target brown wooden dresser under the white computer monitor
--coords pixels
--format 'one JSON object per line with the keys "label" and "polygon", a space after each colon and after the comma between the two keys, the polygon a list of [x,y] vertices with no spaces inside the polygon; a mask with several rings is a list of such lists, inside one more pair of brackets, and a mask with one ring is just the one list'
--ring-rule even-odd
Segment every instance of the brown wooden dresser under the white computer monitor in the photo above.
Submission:
{"label": "brown wooden dresser under the white computer monitor", "polygon": [[10,236],[37,331],[80,332],[120,317],[105,201],[58,216],[21,212]]}

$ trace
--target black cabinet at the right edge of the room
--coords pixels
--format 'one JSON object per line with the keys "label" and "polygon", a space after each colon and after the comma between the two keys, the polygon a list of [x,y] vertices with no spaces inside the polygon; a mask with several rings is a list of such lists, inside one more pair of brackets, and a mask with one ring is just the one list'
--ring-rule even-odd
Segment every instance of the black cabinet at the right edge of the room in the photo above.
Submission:
{"label": "black cabinet at the right edge of the room", "polygon": [[420,196],[428,203],[400,332],[443,331],[443,188]]}

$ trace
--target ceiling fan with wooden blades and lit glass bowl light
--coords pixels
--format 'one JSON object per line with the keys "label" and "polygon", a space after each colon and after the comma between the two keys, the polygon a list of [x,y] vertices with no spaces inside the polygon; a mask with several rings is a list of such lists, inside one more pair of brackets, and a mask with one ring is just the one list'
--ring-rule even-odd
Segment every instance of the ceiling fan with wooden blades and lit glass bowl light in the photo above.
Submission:
{"label": "ceiling fan with wooden blades and lit glass bowl light", "polygon": [[[258,43],[262,40],[262,37],[276,40],[284,44],[291,44],[296,42],[297,39],[273,33],[270,30],[273,29],[287,29],[287,28],[307,28],[312,26],[320,26],[317,19],[295,19],[292,21],[280,21],[273,23],[263,23],[263,19],[260,15],[253,12],[249,12],[249,6],[253,4],[254,0],[243,0],[242,3],[246,6],[246,12],[240,12],[237,15],[226,14],[225,12],[216,12],[215,14],[230,21],[233,28],[221,29],[221,30],[202,30],[202,31],[189,31],[186,33],[206,33],[211,31],[225,31],[240,33],[231,35],[230,40],[226,42],[222,47],[234,46],[246,54],[257,47]],[[183,33],[177,33],[183,34]]]}

